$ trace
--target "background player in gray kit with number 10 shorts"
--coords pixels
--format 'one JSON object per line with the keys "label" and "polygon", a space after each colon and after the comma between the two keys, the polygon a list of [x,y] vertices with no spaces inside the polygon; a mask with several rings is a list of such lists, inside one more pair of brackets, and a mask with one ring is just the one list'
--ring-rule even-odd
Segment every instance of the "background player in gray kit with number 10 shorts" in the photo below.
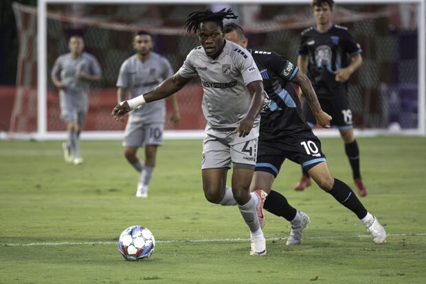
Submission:
{"label": "background player in gray kit with number 10 shorts", "polygon": [[[117,100],[124,100],[127,89],[131,98],[150,91],[163,80],[173,75],[169,61],[152,52],[152,36],[145,31],[133,36],[133,48],[136,54],[124,61],[117,79]],[[177,126],[180,115],[175,96],[170,96],[172,121]],[[163,129],[166,118],[166,102],[157,100],[129,113],[124,133],[124,156],[140,174],[137,183],[137,197],[148,197],[148,185],[155,167],[157,147],[163,143]],[[137,157],[137,149],[145,144],[145,163]]]}

